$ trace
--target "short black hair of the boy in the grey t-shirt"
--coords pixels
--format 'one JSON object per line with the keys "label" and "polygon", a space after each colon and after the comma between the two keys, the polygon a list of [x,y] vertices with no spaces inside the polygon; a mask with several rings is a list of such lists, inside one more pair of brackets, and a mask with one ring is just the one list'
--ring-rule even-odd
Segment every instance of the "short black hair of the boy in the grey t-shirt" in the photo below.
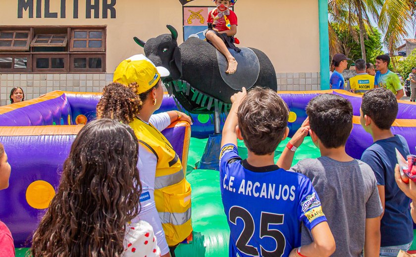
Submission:
{"label": "short black hair of the boy in the grey t-shirt", "polygon": [[335,94],[312,98],[306,107],[311,129],[326,148],[345,145],[353,128],[353,106]]}

